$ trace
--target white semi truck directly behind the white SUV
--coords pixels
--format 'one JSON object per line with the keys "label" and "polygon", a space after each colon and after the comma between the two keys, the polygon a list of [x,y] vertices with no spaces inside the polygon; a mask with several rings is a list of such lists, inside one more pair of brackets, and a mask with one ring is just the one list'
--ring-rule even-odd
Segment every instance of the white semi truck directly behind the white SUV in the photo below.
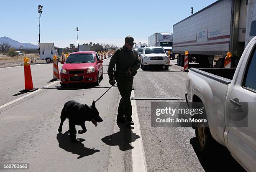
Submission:
{"label": "white semi truck directly behind the white SUV", "polygon": [[172,33],[154,33],[148,37],[149,47],[172,47]]}

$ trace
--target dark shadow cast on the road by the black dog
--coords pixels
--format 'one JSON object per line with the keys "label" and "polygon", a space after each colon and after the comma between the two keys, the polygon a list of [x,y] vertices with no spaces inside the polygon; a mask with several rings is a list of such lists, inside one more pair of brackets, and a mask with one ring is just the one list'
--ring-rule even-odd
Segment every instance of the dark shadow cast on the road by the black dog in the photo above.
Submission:
{"label": "dark shadow cast on the road by the black dog", "polygon": [[97,150],[95,148],[87,148],[84,147],[84,144],[82,144],[82,142],[84,142],[84,139],[78,139],[79,142],[78,143],[72,143],[69,135],[68,135],[69,131],[65,132],[64,134],[59,133],[57,134],[57,140],[59,142],[59,147],[61,149],[64,149],[67,152],[71,152],[72,154],[78,154],[79,157],[77,157],[77,159],[80,159],[82,157],[86,157],[88,155],[92,155],[95,152],[100,152],[100,150]]}

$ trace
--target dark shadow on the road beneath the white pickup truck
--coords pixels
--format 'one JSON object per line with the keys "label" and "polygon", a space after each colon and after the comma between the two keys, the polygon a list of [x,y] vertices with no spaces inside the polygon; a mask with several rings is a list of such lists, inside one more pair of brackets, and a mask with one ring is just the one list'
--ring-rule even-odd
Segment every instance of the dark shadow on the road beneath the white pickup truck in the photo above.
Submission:
{"label": "dark shadow on the road beneath the white pickup truck", "polygon": [[207,157],[202,157],[197,149],[197,139],[193,137],[190,139],[192,145],[202,167],[206,172],[246,172],[246,170],[231,156],[227,148],[222,145],[217,145],[212,153],[209,153]]}

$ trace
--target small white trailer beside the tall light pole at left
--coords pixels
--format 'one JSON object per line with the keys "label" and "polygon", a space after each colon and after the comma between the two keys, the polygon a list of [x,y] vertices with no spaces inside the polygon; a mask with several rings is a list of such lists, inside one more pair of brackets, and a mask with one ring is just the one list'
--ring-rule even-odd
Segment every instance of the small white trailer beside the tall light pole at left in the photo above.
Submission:
{"label": "small white trailer beside the tall light pole at left", "polygon": [[46,63],[51,63],[54,55],[58,56],[58,51],[54,48],[54,43],[38,43],[38,45],[40,60],[45,60]]}

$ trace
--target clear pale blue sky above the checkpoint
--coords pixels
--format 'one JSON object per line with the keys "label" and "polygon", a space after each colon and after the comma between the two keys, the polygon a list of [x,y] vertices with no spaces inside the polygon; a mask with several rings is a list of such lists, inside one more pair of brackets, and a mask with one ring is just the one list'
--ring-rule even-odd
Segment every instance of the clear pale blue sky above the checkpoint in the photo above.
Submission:
{"label": "clear pale blue sky above the checkpoint", "polygon": [[[111,43],[120,47],[127,35],[147,41],[156,32],[171,32],[180,20],[216,0],[1,0],[0,37],[38,45],[38,5],[43,6],[41,43],[55,46]],[[189,26],[188,26],[189,27]]]}

